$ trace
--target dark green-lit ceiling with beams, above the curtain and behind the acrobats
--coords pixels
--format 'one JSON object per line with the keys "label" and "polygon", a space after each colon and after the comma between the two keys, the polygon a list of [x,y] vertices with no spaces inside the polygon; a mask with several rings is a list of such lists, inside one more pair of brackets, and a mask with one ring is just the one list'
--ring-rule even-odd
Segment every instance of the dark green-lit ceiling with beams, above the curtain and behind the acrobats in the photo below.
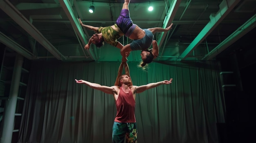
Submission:
{"label": "dark green-lit ceiling with beams, above the curtain and behind the acrobats", "polygon": [[[92,0],[0,0],[0,42],[31,60],[120,61],[120,50],[108,44],[83,49],[94,32],[82,28],[78,18],[84,24],[110,26],[123,2],[94,0],[95,12],[89,13]],[[151,12],[149,3],[154,7]],[[235,43],[243,43],[247,33],[255,35],[255,8],[256,0],[131,0],[129,4],[132,21],[142,29],[173,23],[168,33],[154,35],[159,44],[156,60],[166,62],[225,55]],[[131,40],[123,36],[119,42],[125,45]],[[132,51],[128,60],[140,61],[139,53]]]}

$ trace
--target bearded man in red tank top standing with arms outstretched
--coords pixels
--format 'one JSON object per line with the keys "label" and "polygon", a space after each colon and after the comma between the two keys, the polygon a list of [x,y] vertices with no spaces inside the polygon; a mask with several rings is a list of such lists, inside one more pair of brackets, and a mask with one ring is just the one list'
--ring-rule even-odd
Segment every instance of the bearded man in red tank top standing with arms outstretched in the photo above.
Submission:
{"label": "bearded man in red tank top standing with arms outstretched", "polygon": [[[121,75],[123,68],[125,68],[125,75]],[[85,84],[93,89],[101,90],[114,96],[117,115],[112,128],[112,143],[124,143],[125,138],[126,143],[137,143],[137,126],[135,119],[136,93],[141,93],[162,84],[171,84],[172,80],[173,79],[171,78],[170,80],[159,81],[143,86],[133,86],[128,64],[126,62],[121,62],[115,86],[101,86],[100,84],[91,83],[85,80],[76,80],[76,83]]]}

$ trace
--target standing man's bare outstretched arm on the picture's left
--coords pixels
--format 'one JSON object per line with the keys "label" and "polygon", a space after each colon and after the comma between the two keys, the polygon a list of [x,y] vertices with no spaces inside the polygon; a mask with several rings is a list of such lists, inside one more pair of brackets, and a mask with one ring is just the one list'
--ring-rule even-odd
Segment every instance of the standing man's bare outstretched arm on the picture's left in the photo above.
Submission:
{"label": "standing man's bare outstretched arm on the picture's left", "polygon": [[75,81],[78,84],[85,84],[85,85],[89,86],[90,88],[101,90],[101,91],[103,91],[103,92],[105,92],[107,94],[111,94],[111,95],[113,95],[114,93],[117,94],[115,89],[112,88],[112,87],[109,87],[109,86],[101,86],[100,84],[91,83],[91,82],[85,81],[85,80],[77,80],[77,79],[75,79]]}

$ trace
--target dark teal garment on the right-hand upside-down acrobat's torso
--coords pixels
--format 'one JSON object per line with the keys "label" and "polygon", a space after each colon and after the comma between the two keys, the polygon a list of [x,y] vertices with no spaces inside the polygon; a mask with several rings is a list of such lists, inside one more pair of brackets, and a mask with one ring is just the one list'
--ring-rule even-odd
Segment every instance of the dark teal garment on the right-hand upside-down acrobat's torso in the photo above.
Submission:
{"label": "dark teal garment on the right-hand upside-down acrobat's torso", "polygon": [[130,44],[130,48],[132,51],[146,50],[151,46],[154,35],[148,29],[143,30],[145,31],[145,36],[142,39],[133,40]]}

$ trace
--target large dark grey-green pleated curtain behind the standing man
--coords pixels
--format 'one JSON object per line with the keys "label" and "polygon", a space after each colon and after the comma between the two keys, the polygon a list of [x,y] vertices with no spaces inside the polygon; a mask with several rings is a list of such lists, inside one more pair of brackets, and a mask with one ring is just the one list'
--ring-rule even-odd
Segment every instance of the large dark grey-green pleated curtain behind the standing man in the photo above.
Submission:
{"label": "large dark grey-green pleated curtain behind the standing man", "polygon": [[[217,62],[128,62],[136,86],[169,80],[136,96],[139,143],[218,143],[225,122]],[[110,143],[115,100],[74,79],[113,86],[120,62],[34,62],[22,113],[19,143]]]}

